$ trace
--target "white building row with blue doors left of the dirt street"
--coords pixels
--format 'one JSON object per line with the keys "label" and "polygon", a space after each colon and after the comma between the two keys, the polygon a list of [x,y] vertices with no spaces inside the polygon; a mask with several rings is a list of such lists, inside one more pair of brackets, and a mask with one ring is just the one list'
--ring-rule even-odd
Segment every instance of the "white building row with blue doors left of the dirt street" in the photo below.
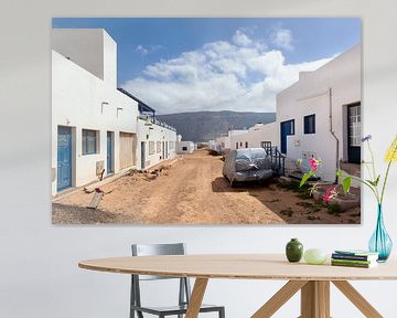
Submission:
{"label": "white building row with blue doors left of the dirt street", "polygon": [[[144,134],[138,104],[117,89],[117,44],[105,30],[52,31],[53,195],[99,177],[139,169],[140,145],[148,135],[148,141],[175,140],[174,129],[160,125],[152,129],[158,135]],[[162,129],[167,134],[161,135]],[[150,166],[165,157],[149,155],[149,148],[151,144],[146,157]]]}

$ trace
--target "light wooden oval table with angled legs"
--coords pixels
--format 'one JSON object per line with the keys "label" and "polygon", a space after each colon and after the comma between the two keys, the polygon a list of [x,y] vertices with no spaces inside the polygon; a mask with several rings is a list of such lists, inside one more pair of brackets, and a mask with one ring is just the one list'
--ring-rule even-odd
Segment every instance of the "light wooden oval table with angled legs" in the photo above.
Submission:
{"label": "light wooden oval table with angled legs", "polygon": [[288,263],[281,254],[130,256],[83,261],[85,269],[176,277],[195,277],[186,318],[196,318],[210,278],[289,280],[251,318],[271,317],[301,290],[302,318],[330,317],[330,283],[365,317],[383,317],[347,280],[397,279],[397,262],[374,268]]}

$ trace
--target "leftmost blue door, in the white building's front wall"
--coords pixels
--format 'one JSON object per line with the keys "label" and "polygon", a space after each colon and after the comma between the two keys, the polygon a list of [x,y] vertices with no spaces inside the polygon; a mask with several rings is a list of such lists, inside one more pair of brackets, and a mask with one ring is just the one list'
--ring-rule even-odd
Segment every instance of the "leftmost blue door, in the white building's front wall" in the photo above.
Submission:
{"label": "leftmost blue door, in the white building's front wall", "polygon": [[58,126],[57,191],[72,187],[72,128]]}

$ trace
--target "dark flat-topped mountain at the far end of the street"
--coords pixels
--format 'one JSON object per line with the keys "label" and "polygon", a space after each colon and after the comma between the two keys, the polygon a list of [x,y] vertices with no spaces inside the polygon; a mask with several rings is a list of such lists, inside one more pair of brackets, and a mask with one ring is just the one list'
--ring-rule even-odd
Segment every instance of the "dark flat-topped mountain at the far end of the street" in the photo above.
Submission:
{"label": "dark flat-topped mountain at the far end of the street", "polygon": [[198,142],[225,135],[229,129],[275,121],[276,113],[195,112],[158,115],[157,118],[175,127],[183,140]]}

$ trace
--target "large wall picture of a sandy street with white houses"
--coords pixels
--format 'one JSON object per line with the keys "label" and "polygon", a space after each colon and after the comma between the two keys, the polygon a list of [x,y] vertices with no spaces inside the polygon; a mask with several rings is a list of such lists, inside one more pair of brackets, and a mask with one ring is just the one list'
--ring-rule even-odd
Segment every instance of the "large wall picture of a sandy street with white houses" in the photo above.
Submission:
{"label": "large wall picture of a sandy street with white houses", "polygon": [[54,224],[361,223],[361,19],[52,23]]}

